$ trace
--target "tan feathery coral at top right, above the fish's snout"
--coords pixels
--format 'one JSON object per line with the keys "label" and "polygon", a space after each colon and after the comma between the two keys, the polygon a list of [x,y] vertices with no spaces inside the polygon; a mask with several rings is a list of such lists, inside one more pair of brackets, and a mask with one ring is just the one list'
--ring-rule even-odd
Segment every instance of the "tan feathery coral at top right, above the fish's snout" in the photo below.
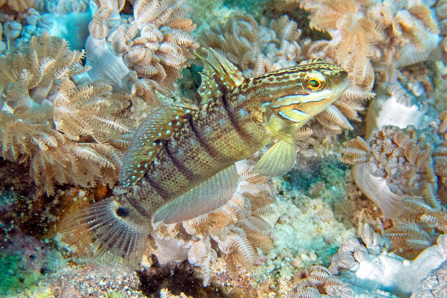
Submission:
{"label": "tan feathery coral at top right, above the fish's snout", "polygon": [[439,25],[430,7],[414,1],[303,0],[311,26],[328,31],[319,55],[337,62],[352,82],[369,89],[396,82],[397,67],[424,61],[439,43]]}

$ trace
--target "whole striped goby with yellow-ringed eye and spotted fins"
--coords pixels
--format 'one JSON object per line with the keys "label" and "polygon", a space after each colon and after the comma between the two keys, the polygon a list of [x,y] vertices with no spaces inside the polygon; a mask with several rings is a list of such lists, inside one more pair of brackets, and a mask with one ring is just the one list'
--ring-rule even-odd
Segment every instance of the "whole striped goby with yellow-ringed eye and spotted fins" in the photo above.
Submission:
{"label": "whole striped goby with yellow-ringed eye and spotted fins", "polygon": [[297,129],[349,84],[345,70],[317,59],[251,78],[212,50],[203,61],[200,107],[161,107],[149,115],[124,158],[126,192],[64,222],[66,234],[92,239],[92,255],[135,267],[152,223],[221,207],[237,186],[234,163],[274,140],[254,171],[286,172],[295,163]]}

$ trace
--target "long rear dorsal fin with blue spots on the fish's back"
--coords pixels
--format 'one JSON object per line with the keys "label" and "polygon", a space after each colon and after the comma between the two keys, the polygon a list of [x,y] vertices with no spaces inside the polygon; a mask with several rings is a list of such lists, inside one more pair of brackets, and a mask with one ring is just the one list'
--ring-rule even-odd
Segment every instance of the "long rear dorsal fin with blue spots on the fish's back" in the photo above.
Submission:
{"label": "long rear dorsal fin with blue spots on the fish's back", "polygon": [[160,151],[161,141],[169,140],[182,127],[187,115],[195,108],[168,105],[159,107],[142,121],[133,134],[131,145],[123,158],[121,183],[123,188],[135,184],[147,171]]}

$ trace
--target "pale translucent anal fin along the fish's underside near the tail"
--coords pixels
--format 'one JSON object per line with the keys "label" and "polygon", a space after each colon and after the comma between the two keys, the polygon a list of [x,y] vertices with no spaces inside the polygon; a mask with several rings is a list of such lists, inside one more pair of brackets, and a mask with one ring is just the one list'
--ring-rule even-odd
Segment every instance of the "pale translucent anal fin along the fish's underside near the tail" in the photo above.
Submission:
{"label": "pale translucent anal fin along the fish's underside near the tail", "polygon": [[231,165],[225,170],[191,188],[174,200],[164,204],[154,216],[154,223],[179,223],[188,219],[207,214],[231,200],[237,188],[236,166]]}

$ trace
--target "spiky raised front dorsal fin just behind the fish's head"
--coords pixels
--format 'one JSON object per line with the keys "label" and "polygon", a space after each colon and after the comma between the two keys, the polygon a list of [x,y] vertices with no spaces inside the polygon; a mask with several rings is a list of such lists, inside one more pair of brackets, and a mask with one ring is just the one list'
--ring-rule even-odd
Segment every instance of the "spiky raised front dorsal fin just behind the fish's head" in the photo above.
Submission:
{"label": "spiky raised front dorsal fin just behind the fish's head", "polygon": [[212,48],[206,50],[206,52],[206,58],[196,53],[203,61],[202,84],[198,89],[203,104],[212,100],[212,98],[221,96],[219,87],[233,89],[244,80],[244,75],[221,54],[212,50]]}

